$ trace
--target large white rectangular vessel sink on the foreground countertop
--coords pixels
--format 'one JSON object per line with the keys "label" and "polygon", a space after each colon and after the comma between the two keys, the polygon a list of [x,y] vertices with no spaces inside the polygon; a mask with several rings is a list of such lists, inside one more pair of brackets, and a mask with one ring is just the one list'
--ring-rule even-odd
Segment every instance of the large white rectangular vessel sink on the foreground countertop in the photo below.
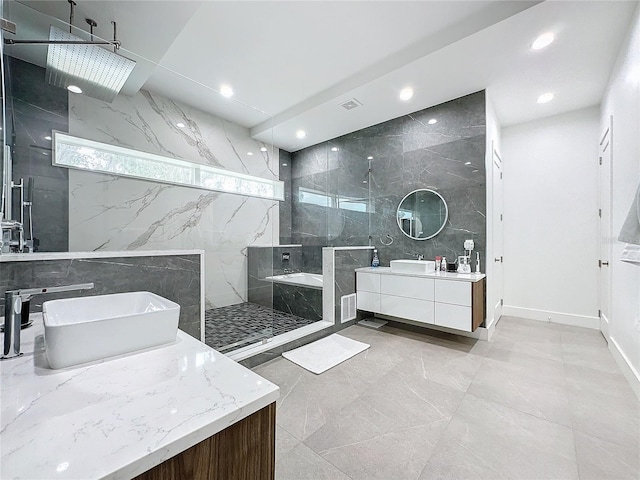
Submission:
{"label": "large white rectangular vessel sink on the foreground countertop", "polygon": [[175,341],[180,305],[151,292],[51,300],[42,305],[51,368]]}

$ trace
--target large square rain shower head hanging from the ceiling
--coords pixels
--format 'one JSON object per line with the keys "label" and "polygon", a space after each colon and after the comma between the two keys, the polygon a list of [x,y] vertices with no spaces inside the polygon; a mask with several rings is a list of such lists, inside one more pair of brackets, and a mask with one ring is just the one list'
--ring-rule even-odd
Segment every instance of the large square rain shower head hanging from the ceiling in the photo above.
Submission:
{"label": "large square rain shower head hanging from the ceiling", "polygon": [[47,53],[47,81],[56,87],[76,85],[82,93],[112,102],[122,89],[136,62],[92,45],[69,32],[51,26]]}

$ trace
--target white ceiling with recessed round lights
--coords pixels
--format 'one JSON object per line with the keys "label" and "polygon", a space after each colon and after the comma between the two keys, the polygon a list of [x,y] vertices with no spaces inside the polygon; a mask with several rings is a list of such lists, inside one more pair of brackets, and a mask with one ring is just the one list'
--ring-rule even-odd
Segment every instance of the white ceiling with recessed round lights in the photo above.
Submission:
{"label": "white ceiling with recessed round lights", "polygon": [[[26,3],[68,18],[65,0]],[[637,6],[78,0],[74,23],[94,18],[96,33],[111,38],[117,20],[123,47],[151,60],[136,58],[126,93],[144,85],[296,151],[485,88],[503,126],[596,105]],[[546,31],[556,42],[531,51]],[[222,83],[241,101],[220,97]],[[405,86],[415,91],[409,102],[398,100]],[[546,91],[556,98],[538,105]],[[350,98],[363,105],[339,106]],[[303,140],[295,137],[301,128]]]}

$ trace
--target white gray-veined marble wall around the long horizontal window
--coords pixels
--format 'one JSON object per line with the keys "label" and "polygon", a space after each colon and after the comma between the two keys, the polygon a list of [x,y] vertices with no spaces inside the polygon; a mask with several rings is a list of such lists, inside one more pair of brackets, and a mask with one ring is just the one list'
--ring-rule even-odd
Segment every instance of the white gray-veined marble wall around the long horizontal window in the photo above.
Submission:
{"label": "white gray-veined marble wall around the long horizontal window", "polygon": [[[69,109],[71,135],[278,178],[277,149],[261,152],[247,129],[149,92],[111,104],[70,96]],[[69,171],[71,251],[202,249],[207,308],[246,301],[246,246],[277,243],[278,220],[276,201]]]}

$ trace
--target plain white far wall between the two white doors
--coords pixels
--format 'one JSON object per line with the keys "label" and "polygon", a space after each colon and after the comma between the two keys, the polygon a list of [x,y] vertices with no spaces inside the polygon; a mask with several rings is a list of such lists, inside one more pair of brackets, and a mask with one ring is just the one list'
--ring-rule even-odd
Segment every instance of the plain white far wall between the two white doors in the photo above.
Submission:
{"label": "plain white far wall between the two white doors", "polygon": [[505,315],[598,328],[597,107],[503,128]]}

